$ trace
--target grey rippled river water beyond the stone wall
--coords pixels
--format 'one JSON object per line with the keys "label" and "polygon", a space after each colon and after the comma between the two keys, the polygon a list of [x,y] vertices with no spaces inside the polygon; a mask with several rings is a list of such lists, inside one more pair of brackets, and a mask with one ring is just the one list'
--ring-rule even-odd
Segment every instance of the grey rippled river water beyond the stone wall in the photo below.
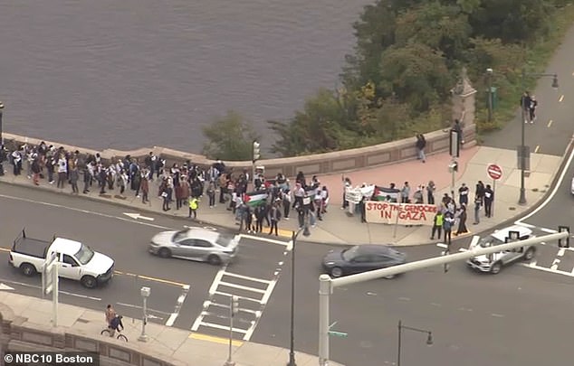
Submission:
{"label": "grey rippled river water beyond the stone wall", "polygon": [[234,109],[268,147],[267,119],[335,85],[372,2],[3,0],[5,131],[199,152],[202,126]]}

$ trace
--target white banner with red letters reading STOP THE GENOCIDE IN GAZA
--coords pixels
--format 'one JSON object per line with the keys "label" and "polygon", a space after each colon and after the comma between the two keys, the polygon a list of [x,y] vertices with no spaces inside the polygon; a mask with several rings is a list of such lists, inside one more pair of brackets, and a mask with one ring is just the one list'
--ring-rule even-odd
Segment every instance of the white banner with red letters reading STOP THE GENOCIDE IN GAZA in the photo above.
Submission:
{"label": "white banner with red letters reading STOP THE GENOCIDE IN GAZA", "polygon": [[434,204],[368,201],[365,211],[371,223],[432,226],[438,208]]}

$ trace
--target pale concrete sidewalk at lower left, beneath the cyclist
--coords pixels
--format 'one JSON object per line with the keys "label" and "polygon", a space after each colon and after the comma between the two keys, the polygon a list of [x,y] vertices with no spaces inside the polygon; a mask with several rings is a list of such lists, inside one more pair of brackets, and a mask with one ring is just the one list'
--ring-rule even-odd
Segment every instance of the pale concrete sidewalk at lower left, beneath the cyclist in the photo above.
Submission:
{"label": "pale concrete sidewalk at lower left, beneath the cyclist", "polygon": [[[0,291],[0,311],[2,318],[12,315],[19,317],[18,325],[32,329],[50,329],[52,322],[52,302],[35,297],[15,295],[9,290]],[[129,345],[136,352],[167,361],[174,365],[222,366],[227,360],[228,343],[220,338],[171,328],[160,324],[148,323],[146,334],[148,342],[138,341],[141,334],[141,319],[123,318],[129,343],[100,335],[106,327],[104,310],[96,312],[72,305],[59,305],[58,327],[53,332],[72,333],[81,337],[98,339],[100,342]],[[10,314],[8,314],[10,313]],[[234,341],[232,361],[236,366],[276,366],[286,364],[288,351],[282,348]],[[316,366],[319,360],[315,356],[296,352],[297,364]],[[339,363],[330,361],[330,365]]]}

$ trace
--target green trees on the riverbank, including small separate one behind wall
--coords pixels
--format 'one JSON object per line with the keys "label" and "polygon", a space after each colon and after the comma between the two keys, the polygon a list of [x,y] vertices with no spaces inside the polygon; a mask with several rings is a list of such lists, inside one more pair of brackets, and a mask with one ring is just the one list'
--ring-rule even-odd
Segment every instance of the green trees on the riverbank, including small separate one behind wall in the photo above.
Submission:
{"label": "green trees on the riverbank, including small separate one behind wall", "polygon": [[[450,89],[463,67],[485,108],[485,70],[499,99],[514,95],[537,42],[568,0],[378,0],[353,24],[356,44],[335,89],[320,89],[288,121],[268,121],[272,153],[308,155],[414,136],[451,123]],[[479,118],[479,128],[496,128]],[[204,154],[249,160],[258,138],[234,111],[204,128]]]}

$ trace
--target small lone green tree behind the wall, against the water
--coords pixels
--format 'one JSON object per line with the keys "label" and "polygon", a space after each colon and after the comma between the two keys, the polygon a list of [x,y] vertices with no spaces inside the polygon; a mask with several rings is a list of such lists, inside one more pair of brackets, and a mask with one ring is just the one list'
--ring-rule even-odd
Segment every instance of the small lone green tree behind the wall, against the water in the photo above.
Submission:
{"label": "small lone green tree behind the wall, against the water", "polygon": [[251,160],[253,141],[259,139],[252,125],[232,110],[203,127],[203,133],[203,154],[210,159]]}

